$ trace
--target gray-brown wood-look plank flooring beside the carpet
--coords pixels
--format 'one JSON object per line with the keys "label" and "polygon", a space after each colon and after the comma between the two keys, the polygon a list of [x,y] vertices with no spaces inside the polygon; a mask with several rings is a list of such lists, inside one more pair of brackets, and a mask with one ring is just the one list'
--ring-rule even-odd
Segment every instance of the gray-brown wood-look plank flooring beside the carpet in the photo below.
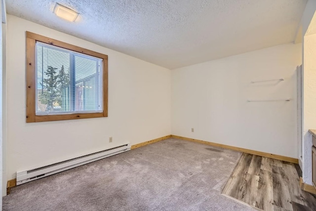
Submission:
{"label": "gray-brown wood-look plank flooring beside the carpet", "polygon": [[222,194],[264,211],[316,211],[300,174],[296,164],[243,153]]}

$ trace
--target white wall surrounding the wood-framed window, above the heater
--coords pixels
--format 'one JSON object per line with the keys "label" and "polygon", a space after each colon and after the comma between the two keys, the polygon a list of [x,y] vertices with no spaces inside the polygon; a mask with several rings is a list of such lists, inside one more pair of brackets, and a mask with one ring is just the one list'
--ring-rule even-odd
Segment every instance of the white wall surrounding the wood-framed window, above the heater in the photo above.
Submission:
{"label": "white wall surrounding the wood-framed window, above the heater", "polygon": [[[25,123],[25,31],[109,56],[108,118]],[[6,67],[8,180],[17,170],[171,134],[168,69],[11,15]]]}

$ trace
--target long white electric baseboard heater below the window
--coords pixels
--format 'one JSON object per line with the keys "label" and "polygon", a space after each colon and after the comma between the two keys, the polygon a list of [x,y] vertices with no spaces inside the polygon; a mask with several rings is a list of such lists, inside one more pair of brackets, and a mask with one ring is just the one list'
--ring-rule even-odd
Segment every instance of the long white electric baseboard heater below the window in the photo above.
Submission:
{"label": "long white electric baseboard heater below the window", "polygon": [[40,179],[45,176],[49,176],[54,173],[58,173],[64,170],[72,169],[84,164],[91,163],[103,158],[107,158],[125,151],[130,150],[130,143],[119,145],[114,148],[103,150],[96,153],[91,153],[78,158],[70,159],[67,161],[62,161],[54,163],[45,167],[40,167],[37,169],[17,171],[16,172],[16,185],[21,185],[26,182],[30,182],[36,179]]}

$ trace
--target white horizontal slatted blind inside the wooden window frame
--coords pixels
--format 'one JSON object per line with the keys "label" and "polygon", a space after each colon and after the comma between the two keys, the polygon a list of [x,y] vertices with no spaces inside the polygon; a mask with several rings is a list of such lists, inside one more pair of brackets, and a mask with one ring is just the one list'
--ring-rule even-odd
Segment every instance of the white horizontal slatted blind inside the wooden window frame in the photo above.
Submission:
{"label": "white horizontal slatted blind inside the wooden window frame", "polygon": [[103,112],[102,59],[36,42],[36,115]]}

